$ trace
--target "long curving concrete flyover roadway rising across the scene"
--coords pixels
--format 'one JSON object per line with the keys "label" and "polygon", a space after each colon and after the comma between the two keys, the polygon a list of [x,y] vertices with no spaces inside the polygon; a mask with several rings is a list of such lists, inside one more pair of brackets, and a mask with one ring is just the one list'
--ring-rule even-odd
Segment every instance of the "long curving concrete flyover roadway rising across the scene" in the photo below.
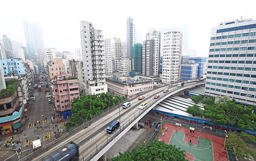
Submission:
{"label": "long curving concrete flyover roadway rising across the scene", "polygon": [[[79,159],[80,160],[98,160],[107,152],[124,134],[138,121],[151,111],[158,103],[166,99],[167,97],[179,93],[185,89],[190,89],[199,85],[204,85],[204,82],[194,82],[185,83],[183,87],[169,87],[169,93],[163,93],[163,90],[167,87],[161,87],[153,91],[146,93],[145,99],[138,101],[138,99],[133,99],[130,101],[132,104],[128,109],[122,109],[119,107],[111,111],[110,113],[99,117],[92,122],[89,122],[83,127],[78,127],[81,130],[77,133],[66,133],[65,140],[60,140],[58,144],[48,148],[48,150],[40,151],[37,150],[27,156],[24,156],[22,160],[40,160],[44,156],[50,154],[54,150],[58,149],[60,146],[66,144],[67,142],[73,141],[79,145]],[[153,99],[156,94],[161,95],[159,99]],[[146,102],[147,107],[144,109],[138,109],[138,106]],[[114,120],[120,119],[120,127],[112,134],[108,134],[105,128],[112,123]],[[46,145],[47,146],[47,145]]]}

